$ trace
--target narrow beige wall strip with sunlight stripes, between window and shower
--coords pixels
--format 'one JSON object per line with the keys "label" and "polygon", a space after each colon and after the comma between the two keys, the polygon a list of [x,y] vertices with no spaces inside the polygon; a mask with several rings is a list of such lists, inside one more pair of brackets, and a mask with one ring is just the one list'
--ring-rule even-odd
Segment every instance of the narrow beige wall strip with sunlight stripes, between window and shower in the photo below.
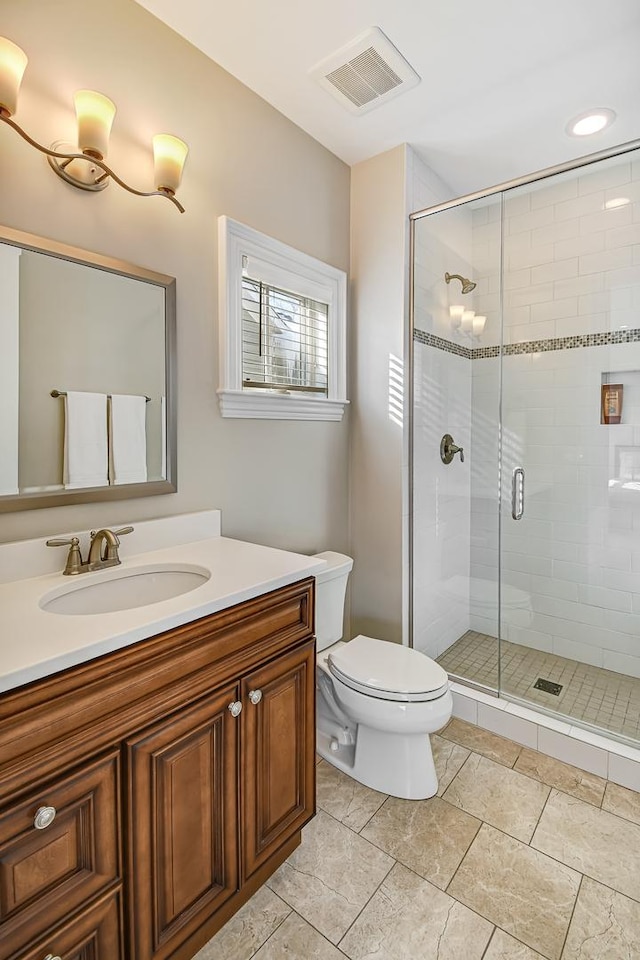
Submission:
{"label": "narrow beige wall strip with sunlight stripes, between window and shower", "polygon": [[351,171],[352,634],[402,640],[404,146]]}

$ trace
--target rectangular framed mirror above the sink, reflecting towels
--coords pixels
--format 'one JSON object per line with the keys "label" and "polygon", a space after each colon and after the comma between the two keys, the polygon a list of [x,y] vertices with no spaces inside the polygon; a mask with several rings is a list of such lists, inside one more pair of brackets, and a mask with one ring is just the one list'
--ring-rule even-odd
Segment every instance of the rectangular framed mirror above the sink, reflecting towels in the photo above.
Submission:
{"label": "rectangular framed mirror above the sink, reflecting towels", "polygon": [[174,493],[175,279],[0,227],[0,291],[0,512]]}

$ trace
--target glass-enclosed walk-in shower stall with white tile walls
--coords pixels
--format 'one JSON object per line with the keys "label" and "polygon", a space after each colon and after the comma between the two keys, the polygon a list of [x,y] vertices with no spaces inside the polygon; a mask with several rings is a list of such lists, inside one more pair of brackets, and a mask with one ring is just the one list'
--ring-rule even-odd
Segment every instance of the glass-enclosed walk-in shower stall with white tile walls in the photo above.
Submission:
{"label": "glass-enclosed walk-in shower stall with white tile walls", "polygon": [[413,645],[640,742],[640,145],[411,216]]}

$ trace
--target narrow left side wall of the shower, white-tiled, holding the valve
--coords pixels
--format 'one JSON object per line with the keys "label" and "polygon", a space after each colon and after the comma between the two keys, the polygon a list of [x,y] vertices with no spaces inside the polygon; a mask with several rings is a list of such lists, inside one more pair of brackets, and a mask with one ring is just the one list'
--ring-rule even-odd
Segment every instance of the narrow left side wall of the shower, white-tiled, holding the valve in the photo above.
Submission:
{"label": "narrow left side wall of the shower, white-tiled, holding the valve", "polygon": [[[470,270],[471,249],[472,221],[464,210],[416,231],[413,636],[431,657],[469,629],[471,360],[462,339],[451,335],[444,274]],[[445,433],[464,448],[464,463],[441,462]]]}

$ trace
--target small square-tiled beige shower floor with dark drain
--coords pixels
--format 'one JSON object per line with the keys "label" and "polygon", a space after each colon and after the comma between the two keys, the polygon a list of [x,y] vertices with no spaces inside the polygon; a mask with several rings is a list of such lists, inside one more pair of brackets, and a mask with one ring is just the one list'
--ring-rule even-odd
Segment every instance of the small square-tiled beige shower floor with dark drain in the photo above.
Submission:
{"label": "small square-tiled beige shower floor with dark drain", "polygon": [[[505,693],[640,740],[640,679],[508,640],[500,643],[500,658]],[[498,641],[486,633],[468,630],[438,657],[438,663],[453,676],[495,689]],[[560,695],[535,690],[538,677],[562,684]]]}

